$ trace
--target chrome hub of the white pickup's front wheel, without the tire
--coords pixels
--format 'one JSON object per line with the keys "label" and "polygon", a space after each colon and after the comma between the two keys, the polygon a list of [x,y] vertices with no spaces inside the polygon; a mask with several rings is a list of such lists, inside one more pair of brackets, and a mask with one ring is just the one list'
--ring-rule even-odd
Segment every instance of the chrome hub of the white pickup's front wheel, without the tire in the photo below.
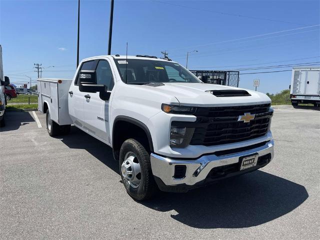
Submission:
{"label": "chrome hub of the white pickup's front wheel, without the tire", "polygon": [[140,185],[141,167],[138,158],[132,151],[127,152],[124,156],[124,161],[121,165],[121,175],[133,188]]}

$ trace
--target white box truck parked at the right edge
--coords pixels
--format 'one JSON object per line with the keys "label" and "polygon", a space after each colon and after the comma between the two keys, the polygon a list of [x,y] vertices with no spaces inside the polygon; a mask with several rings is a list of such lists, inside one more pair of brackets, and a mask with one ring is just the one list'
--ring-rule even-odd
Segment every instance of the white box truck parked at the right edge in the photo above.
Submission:
{"label": "white box truck parked at the right edge", "polygon": [[312,103],[320,106],[320,67],[295,66],[292,68],[290,99],[293,106]]}

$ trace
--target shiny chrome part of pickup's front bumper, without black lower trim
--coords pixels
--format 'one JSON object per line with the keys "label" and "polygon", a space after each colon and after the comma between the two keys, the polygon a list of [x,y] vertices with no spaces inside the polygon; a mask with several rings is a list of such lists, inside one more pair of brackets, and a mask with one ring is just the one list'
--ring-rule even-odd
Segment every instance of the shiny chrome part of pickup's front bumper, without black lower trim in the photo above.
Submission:
{"label": "shiny chrome part of pickup's front bumper, without black lower trim", "polygon": [[[259,156],[271,154],[273,158],[273,140],[267,141],[264,145],[249,150],[217,156],[214,153],[203,155],[197,159],[170,159],[151,153],[151,168],[155,177],[158,177],[166,186],[189,185],[192,186],[206,178],[209,171],[217,166],[237,163],[239,157],[257,153]],[[270,161],[271,161],[270,159]],[[183,178],[174,178],[174,166],[185,165],[186,171]],[[248,168],[249,169],[249,168]],[[238,171],[239,174],[242,171]]]}

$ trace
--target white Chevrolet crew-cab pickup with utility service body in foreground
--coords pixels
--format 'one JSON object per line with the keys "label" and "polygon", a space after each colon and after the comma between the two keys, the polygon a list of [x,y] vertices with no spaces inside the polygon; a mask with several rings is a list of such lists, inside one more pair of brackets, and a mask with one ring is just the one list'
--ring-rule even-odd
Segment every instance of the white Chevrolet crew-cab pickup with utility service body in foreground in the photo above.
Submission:
{"label": "white Chevrolet crew-cab pickup with utility service body in foreground", "polygon": [[95,56],[71,80],[37,84],[49,135],[74,124],[112,147],[137,200],[254,171],[273,157],[268,96],[205,84],[169,59]]}

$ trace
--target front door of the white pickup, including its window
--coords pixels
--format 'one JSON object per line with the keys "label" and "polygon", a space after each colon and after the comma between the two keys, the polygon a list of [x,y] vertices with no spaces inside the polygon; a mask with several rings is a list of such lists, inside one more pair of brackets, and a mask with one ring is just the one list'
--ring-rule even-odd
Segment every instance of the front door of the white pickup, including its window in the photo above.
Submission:
{"label": "front door of the white pickup, including its window", "polygon": [[[110,62],[106,59],[98,60],[95,71],[96,84],[106,85],[107,90],[111,91],[114,81]],[[87,94],[84,102],[84,124],[87,131],[108,143],[110,142],[109,100],[101,100],[99,92]]]}

